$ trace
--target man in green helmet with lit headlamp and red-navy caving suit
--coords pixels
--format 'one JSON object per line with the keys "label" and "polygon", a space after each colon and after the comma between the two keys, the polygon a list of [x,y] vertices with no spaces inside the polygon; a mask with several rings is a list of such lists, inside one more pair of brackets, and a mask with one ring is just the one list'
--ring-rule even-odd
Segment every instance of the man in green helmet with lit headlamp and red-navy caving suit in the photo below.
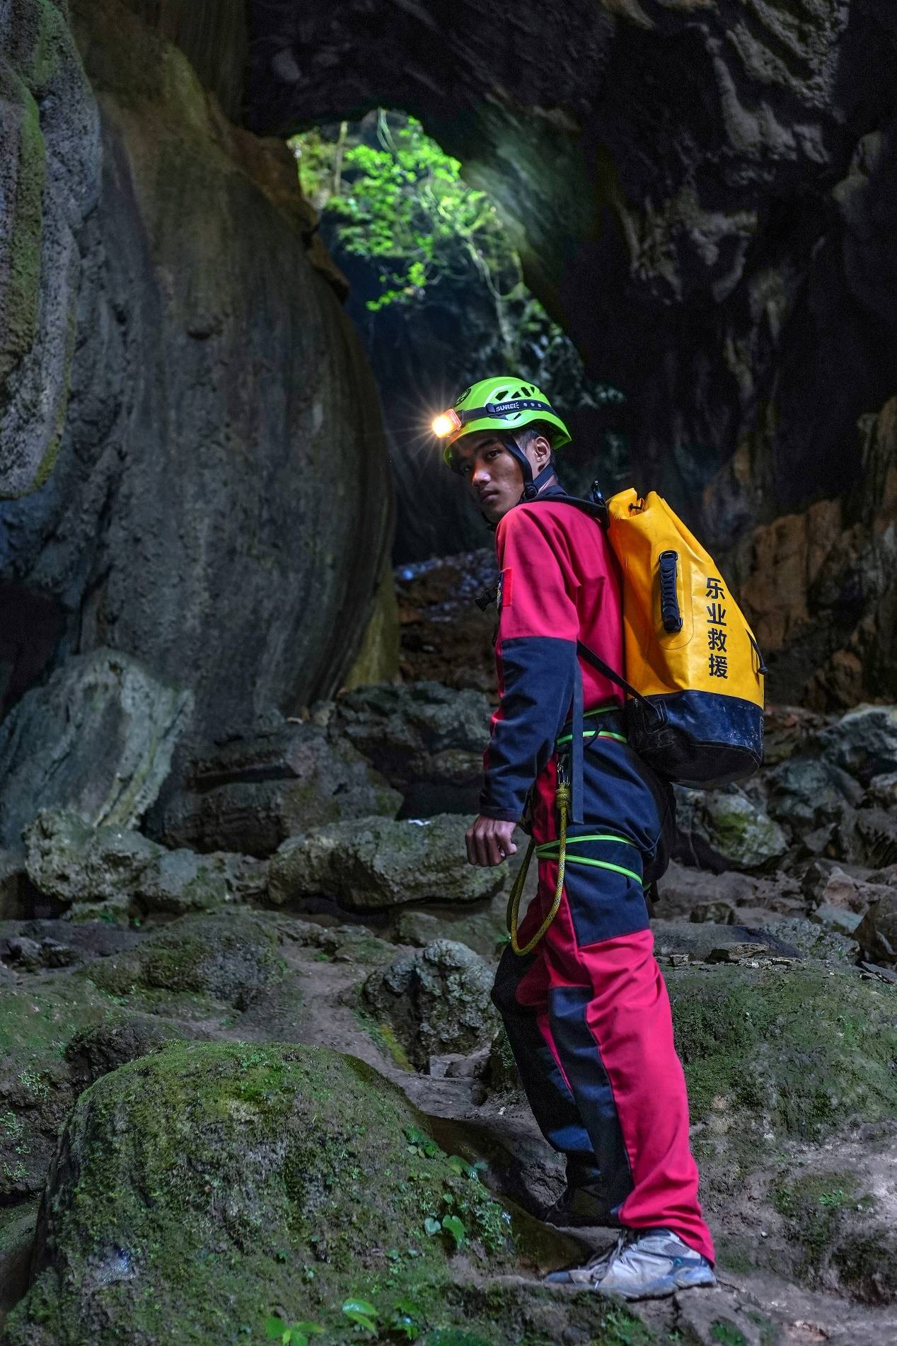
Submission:
{"label": "man in green helmet with lit headlamp and red-navy caving suit", "polygon": [[[468,859],[512,855],[527,801],[539,859],[515,941],[523,956],[504,950],[492,997],[535,1119],[566,1155],[568,1187],[546,1218],[623,1229],[612,1249],[549,1280],[628,1299],[714,1285],[643,891],[667,864],[672,795],[628,747],[619,688],[577,653],[581,641],[624,672],[619,567],[596,520],[563,502],[554,450],[570,436],[538,388],[481,380],[433,428],[495,528],[502,572],[500,704]],[[555,793],[559,777],[570,779],[577,724],[581,798],[558,887]],[[557,914],[533,945],[555,894]]]}

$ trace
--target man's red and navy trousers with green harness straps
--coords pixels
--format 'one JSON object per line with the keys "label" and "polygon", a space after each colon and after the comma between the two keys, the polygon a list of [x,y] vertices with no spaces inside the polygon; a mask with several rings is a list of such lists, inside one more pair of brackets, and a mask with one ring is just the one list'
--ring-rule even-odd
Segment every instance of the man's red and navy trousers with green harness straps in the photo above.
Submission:
{"label": "man's red and navy trousers with green harness straps", "polygon": [[[644,872],[666,867],[667,797],[625,744],[609,740],[588,758],[589,821],[569,833],[559,911],[531,954],[504,950],[492,999],[535,1120],[568,1156],[569,1179],[601,1191],[609,1222],[672,1229],[713,1261],[641,888]],[[555,835],[553,763],[538,782],[533,832],[541,845]],[[557,860],[542,857],[520,945],[541,925],[555,883]]]}

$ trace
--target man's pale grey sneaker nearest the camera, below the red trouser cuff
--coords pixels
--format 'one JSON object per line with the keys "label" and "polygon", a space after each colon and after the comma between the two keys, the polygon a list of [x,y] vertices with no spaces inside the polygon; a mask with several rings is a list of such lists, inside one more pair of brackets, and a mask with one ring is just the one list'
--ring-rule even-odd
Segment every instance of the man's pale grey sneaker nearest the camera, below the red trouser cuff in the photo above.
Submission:
{"label": "man's pale grey sneaker nearest the camera, below the red trouser cuff", "polygon": [[589,1285],[600,1295],[619,1295],[621,1299],[663,1299],[676,1289],[717,1284],[707,1259],[668,1229],[648,1233],[629,1229],[609,1252],[585,1267],[551,1272],[546,1280]]}

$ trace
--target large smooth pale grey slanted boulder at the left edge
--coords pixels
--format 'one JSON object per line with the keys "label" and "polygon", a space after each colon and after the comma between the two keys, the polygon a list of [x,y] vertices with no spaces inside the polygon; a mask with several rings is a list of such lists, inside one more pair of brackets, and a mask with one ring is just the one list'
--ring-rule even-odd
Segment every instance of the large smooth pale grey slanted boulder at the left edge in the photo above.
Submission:
{"label": "large smooth pale grey slanted boulder at the left edge", "polygon": [[95,650],[67,660],[0,725],[0,845],[20,844],[43,808],[136,826],[168,774],[190,711],[188,692],[165,686],[128,656]]}

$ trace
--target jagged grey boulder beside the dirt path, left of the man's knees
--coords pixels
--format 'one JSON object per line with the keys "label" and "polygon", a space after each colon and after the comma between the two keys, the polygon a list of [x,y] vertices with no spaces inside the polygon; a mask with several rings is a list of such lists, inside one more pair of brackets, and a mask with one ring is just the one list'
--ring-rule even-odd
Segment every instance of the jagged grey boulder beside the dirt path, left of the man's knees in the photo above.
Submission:
{"label": "jagged grey boulder beside the dirt path, left of the man's knees", "polygon": [[469,1055],[491,1043],[498,1014],[490,1000],[491,964],[455,940],[436,940],[402,954],[364,983],[364,1004],[391,1026],[409,1059],[426,1070],[430,1057]]}

